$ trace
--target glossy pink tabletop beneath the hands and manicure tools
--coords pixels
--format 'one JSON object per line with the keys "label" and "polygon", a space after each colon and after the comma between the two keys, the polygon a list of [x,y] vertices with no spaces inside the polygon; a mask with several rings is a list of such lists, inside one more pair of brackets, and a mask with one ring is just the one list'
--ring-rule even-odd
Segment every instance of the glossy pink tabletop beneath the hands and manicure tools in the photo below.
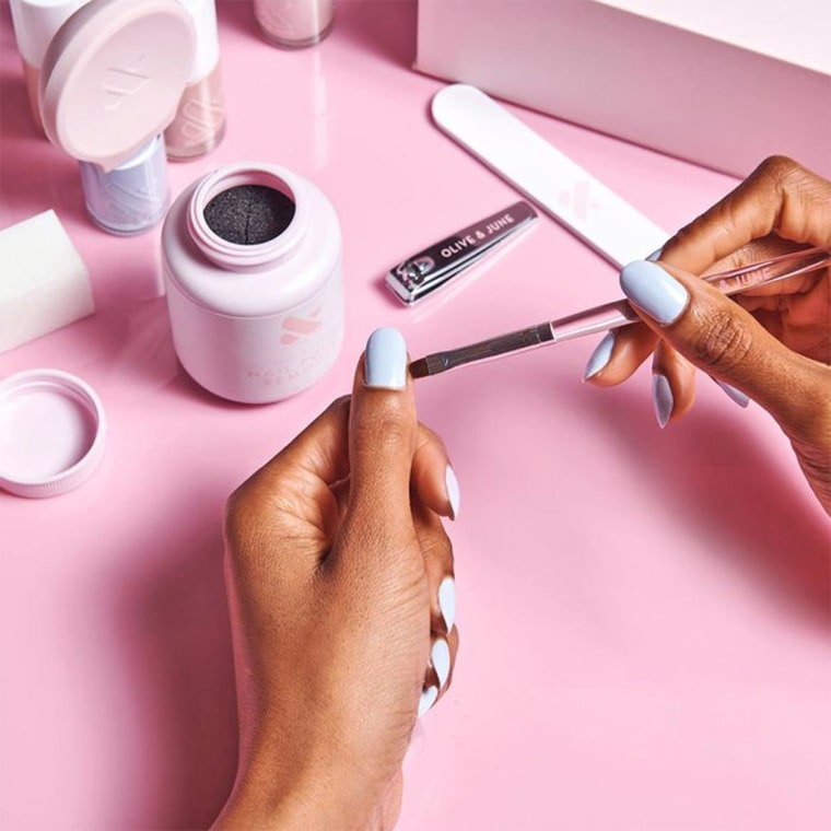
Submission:
{"label": "glossy pink tabletop beneath the hands and manicure tools", "polygon": [[[0,494],[3,829],[213,818],[236,752],[223,501],[349,388],[372,329],[399,327],[419,354],[618,295],[615,270],[542,216],[464,289],[398,305],[382,288],[391,264],[516,198],[431,124],[442,84],[410,69],[414,4],[340,2],[331,36],[297,52],[262,42],[248,3],[219,7],[229,132],[171,168],[174,190],[223,163],[276,162],[329,195],[344,232],[341,356],[274,406],[223,402],[177,365],[159,232],[87,222],[74,163],[33,131],[0,7],[0,226],[55,208],[97,305],[0,355],[0,376],[78,373],[110,422],[80,490]],[[734,185],[510,109],[667,230]],[[417,729],[399,828],[829,828],[824,515],[758,407],[704,378],[662,432],[647,367],[611,391],[581,384],[593,346],[418,385],[461,484],[463,645]]]}

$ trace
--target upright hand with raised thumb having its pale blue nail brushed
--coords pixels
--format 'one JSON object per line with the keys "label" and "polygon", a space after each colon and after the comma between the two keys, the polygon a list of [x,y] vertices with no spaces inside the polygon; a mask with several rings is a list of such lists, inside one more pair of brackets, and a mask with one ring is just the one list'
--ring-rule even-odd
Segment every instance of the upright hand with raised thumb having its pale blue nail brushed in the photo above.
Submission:
{"label": "upright hand with raised thumb having its pale blue nail brushed", "polygon": [[335,401],[231,498],[239,766],[219,828],[390,828],[417,714],[458,648],[440,515],[458,485],[376,331]]}

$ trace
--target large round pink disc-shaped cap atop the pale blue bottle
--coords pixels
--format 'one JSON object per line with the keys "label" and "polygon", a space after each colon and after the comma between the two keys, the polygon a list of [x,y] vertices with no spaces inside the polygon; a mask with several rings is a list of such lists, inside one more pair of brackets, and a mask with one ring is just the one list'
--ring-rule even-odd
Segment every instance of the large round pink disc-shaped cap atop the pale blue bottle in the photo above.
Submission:
{"label": "large round pink disc-shaped cap atop the pale blue bottle", "polygon": [[46,134],[79,161],[118,167],[175,118],[195,51],[178,0],[91,0],[44,57]]}

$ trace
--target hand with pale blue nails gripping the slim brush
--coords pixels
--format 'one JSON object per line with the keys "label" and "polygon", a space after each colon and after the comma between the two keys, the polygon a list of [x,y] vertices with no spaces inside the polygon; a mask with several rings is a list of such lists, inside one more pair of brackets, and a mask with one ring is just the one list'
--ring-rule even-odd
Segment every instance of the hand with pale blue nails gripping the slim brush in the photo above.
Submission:
{"label": "hand with pale blue nails gripping the slim brush", "polygon": [[779,422],[808,483],[831,514],[831,269],[750,290],[734,300],[693,274],[831,245],[831,183],[772,157],[676,234],[658,262],[633,262],[621,288],[645,325],[609,333],[586,379],[625,381],[654,353],[653,398],[665,426],[694,399],[694,368],[738,403],[747,396]]}

